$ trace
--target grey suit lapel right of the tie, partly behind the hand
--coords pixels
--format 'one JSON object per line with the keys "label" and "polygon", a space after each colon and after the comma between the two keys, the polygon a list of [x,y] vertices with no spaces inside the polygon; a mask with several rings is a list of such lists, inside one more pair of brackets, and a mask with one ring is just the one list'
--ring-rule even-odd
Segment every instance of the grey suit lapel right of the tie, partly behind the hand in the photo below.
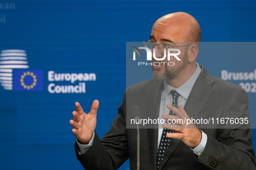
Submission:
{"label": "grey suit lapel right of the tie, partly behind the hand", "polygon": [[[200,75],[198,79],[194,83],[194,86],[188,96],[188,100],[185,104],[184,110],[191,118],[196,118],[201,109],[203,108],[205,102],[210,97],[212,93],[212,88],[210,86],[211,83],[214,82],[211,75],[204,69],[204,66],[201,67]],[[159,170],[165,165],[165,163],[169,160],[175,149],[178,147],[181,140],[172,139],[170,145],[165,153],[163,161],[159,167]]]}

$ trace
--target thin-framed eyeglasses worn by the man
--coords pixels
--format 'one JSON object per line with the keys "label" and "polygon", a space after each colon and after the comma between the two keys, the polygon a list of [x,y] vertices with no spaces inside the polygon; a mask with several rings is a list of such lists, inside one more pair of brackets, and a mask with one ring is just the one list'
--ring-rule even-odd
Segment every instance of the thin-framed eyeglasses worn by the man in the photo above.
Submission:
{"label": "thin-framed eyeglasses worn by the man", "polygon": [[164,55],[164,49],[166,49],[165,51],[166,51],[166,53],[167,53],[167,49],[168,48],[174,48],[174,47],[184,47],[184,46],[190,46],[190,45],[178,45],[178,46],[171,46],[171,45],[169,45],[169,44],[167,44],[167,43],[159,43],[159,44],[157,44],[157,43],[155,43],[155,42],[153,42],[153,41],[150,41],[150,40],[147,40],[147,41],[143,41],[143,43],[144,43],[144,46],[145,47],[148,47],[149,49],[151,49],[151,51],[153,51],[153,49],[155,48],[155,45],[157,45],[158,47],[158,51],[159,51],[159,53],[160,54],[162,54],[162,55]]}

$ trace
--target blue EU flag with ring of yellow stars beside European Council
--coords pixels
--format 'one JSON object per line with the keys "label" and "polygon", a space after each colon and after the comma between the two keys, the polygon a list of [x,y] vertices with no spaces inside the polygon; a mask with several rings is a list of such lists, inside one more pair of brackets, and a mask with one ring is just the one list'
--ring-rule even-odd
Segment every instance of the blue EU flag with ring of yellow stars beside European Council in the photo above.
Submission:
{"label": "blue EU flag with ring of yellow stars beside European Council", "polygon": [[42,91],[43,70],[15,69],[13,70],[14,91]]}

